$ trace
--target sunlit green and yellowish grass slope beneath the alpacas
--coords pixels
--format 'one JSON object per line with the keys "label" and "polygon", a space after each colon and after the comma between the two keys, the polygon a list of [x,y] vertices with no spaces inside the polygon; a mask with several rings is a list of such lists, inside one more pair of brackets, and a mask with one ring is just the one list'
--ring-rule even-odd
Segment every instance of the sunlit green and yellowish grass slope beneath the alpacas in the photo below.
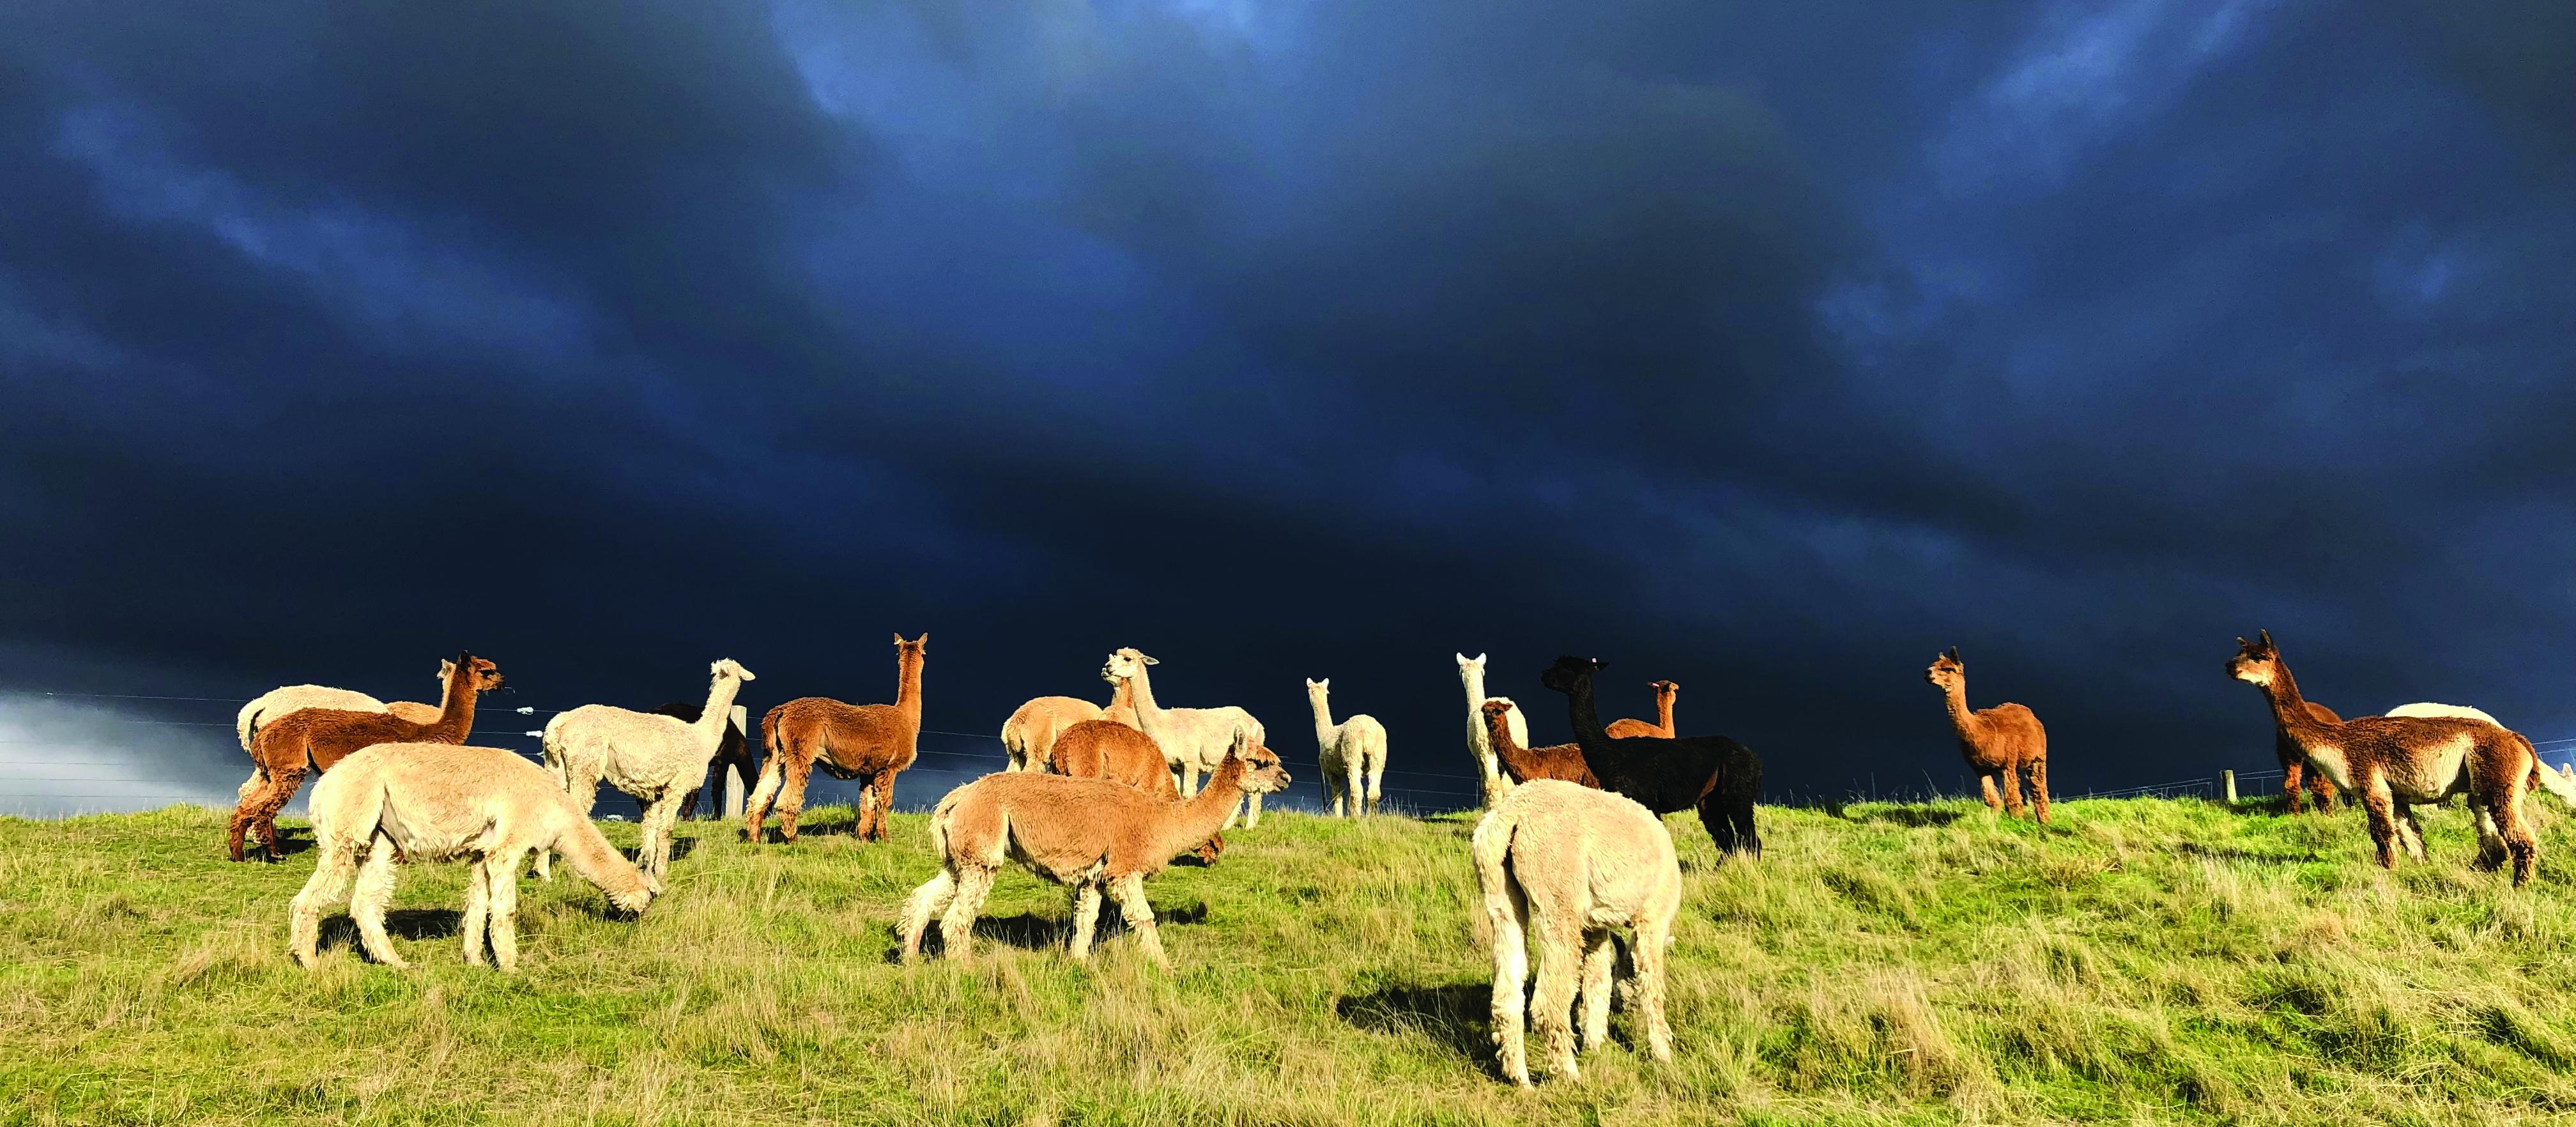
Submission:
{"label": "sunlit green and yellowish grass slope beneath the alpacas", "polygon": [[[2576,834],[2473,872],[2460,811],[2380,872],[2357,813],[2249,803],[1674,818],[1672,1065],[1615,1045],[1520,1094],[1486,1042],[1471,818],[1270,816],[1157,877],[1175,973],[1002,877],[976,962],[891,965],[925,821],[860,847],[683,826],[641,921],[523,885],[520,973],[456,949],[461,867],[404,870],[410,973],[286,957],[312,852],[222,816],[0,818],[0,1122],[2532,1122],[2576,1117]],[[817,826],[819,823],[819,826]],[[631,844],[634,826],[611,826]]]}

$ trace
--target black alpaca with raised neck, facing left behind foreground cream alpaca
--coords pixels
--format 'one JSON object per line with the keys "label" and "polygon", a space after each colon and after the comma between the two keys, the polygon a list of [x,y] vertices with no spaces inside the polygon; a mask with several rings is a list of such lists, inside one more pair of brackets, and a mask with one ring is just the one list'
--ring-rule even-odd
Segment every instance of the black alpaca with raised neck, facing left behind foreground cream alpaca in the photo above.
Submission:
{"label": "black alpaca with raised neck, facing left behind foreground cream alpaca", "polygon": [[1600,659],[1561,656],[1538,674],[1538,684],[1566,695],[1574,746],[1584,751],[1584,767],[1602,780],[1602,790],[1628,795],[1654,813],[1698,808],[1700,826],[1708,826],[1721,854],[1762,857],[1762,834],[1754,831],[1762,756],[1726,736],[1610,738],[1592,710],[1592,674],[1607,666]]}

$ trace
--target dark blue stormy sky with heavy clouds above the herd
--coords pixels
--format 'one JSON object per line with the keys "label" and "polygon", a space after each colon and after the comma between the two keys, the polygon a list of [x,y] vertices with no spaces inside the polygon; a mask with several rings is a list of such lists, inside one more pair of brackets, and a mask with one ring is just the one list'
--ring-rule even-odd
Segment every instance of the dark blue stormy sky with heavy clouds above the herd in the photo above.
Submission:
{"label": "dark blue stormy sky with heavy clouds above the herd", "polygon": [[471,648],[531,751],[896,630],[902,805],[1118,646],[1293,803],[1329,677],[1458,805],[1461,651],[1775,800],[1958,790],[1942,646],[2058,793],[2272,769],[2257,628],[2576,738],[2571,103],[2550,0],[33,0],[0,811],[229,800],[276,684]]}

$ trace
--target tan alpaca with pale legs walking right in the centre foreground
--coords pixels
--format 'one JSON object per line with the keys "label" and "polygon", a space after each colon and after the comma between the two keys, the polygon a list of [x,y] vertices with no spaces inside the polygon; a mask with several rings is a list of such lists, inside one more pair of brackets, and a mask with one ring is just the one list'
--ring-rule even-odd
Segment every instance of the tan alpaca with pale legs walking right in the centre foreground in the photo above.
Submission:
{"label": "tan alpaca with pale legs walking right in the centre foreground", "polygon": [[[1139,687],[1139,710],[1151,708]],[[1005,859],[1020,862],[1043,880],[1074,888],[1077,960],[1092,955],[1092,924],[1100,919],[1100,893],[1108,890],[1118,913],[1154,962],[1170,967],[1162,937],[1154,934],[1154,906],[1144,880],[1172,865],[1218,829],[1247,793],[1288,787],[1280,756],[1236,733],[1224,762],[1198,795],[1167,803],[1110,780],[1069,780],[1061,774],[987,774],[940,798],[930,811],[930,844],[940,852],[940,872],[912,890],[904,906],[904,960],[922,952],[930,916],[940,916],[940,942],[951,960],[963,960],[974,944],[974,919],[992,893]]]}

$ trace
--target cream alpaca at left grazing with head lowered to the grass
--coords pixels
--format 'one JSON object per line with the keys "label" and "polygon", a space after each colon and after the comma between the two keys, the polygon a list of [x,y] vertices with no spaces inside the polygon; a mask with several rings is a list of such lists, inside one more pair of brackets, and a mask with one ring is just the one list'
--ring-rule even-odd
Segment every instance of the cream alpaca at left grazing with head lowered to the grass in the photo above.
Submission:
{"label": "cream alpaca at left grazing with head lowered to the grass", "polygon": [[[350,919],[358,942],[389,967],[407,967],[384,937],[394,903],[394,852],[412,862],[464,859],[466,962],[518,965],[518,867],[528,852],[556,849],[572,872],[600,885],[621,911],[644,911],[659,885],[626,865],[551,774],[497,746],[376,744],[314,785],[314,841],[322,859],[289,908],[296,962],[312,967],[322,908],[358,880]],[[358,865],[366,854],[366,865]]]}

